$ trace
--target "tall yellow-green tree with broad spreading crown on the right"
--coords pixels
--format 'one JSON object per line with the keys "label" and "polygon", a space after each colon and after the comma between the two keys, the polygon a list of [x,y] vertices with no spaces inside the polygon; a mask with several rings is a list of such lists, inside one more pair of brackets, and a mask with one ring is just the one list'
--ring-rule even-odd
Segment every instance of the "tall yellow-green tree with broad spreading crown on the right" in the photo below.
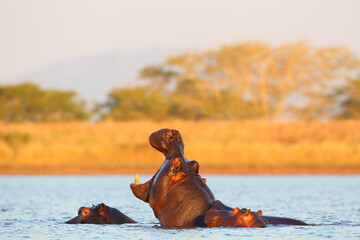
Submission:
{"label": "tall yellow-green tree with broad spreading crown on the right", "polygon": [[334,116],[334,86],[358,71],[359,60],[343,47],[241,43],[170,57],[140,78],[168,96],[178,117],[310,120]]}

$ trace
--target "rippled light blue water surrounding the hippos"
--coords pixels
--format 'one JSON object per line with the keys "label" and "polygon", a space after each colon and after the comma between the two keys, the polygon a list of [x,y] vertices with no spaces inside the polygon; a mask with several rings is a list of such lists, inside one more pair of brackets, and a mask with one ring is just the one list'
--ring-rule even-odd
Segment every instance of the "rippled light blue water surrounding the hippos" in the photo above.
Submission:
{"label": "rippled light blue water surrounding the hippos", "polygon": [[[203,177],[227,205],[314,225],[162,229],[133,196],[134,176],[0,176],[0,239],[360,239],[360,176]],[[64,224],[101,202],[138,223]]]}

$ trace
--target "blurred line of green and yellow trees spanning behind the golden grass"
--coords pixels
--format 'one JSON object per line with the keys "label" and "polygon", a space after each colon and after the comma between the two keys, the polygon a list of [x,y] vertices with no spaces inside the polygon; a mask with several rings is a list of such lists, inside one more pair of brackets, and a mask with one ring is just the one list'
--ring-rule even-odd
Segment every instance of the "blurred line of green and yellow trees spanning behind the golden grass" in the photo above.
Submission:
{"label": "blurred line of green and yellow trees spanning behind the golden grass", "polygon": [[89,109],[74,91],[0,86],[0,120],[360,118],[360,60],[344,47],[261,42],[186,52],[145,66],[137,84]]}

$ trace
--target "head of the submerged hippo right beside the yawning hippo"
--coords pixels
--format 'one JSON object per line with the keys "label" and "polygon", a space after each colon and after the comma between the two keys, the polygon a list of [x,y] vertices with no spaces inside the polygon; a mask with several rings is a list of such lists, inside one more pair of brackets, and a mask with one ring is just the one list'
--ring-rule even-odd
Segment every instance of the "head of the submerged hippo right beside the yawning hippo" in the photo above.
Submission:
{"label": "head of the submerged hippo right beside the yawning hippo", "polygon": [[208,227],[266,227],[268,222],[261,217],[262,211],[234,208],[230,210],[210,209],[205,216]]}

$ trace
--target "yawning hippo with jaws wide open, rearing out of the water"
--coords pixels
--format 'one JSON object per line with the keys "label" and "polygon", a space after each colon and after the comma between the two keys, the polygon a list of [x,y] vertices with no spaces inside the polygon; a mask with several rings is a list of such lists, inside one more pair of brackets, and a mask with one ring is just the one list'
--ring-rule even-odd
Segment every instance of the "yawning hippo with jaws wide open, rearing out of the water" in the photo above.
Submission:
{"label": "yawning hippo with jaws wide open, rearing out of the water", "polygon": [[[199,175],[199,163],[185,158],[184,142],[179,131],[161,129],[150,135],[149,142],[164,154],[164,162],[149,181],[140,183],[136,177],[130,188],[135,197],[149,203],[162,227],[206,227],[205,216],[210,209],[233,211],[233,208],[215,200],[206,185],[206,179]],[[218,214],[226,215],[226,212]],[[240,215],[240,212],[235,215]],[[254,213],[250,215],[256,219],[265,219],[262,221],[269,224],[305,224],[288,218],[264,217]],[[253,227],[260,225],[254,224]]]}

